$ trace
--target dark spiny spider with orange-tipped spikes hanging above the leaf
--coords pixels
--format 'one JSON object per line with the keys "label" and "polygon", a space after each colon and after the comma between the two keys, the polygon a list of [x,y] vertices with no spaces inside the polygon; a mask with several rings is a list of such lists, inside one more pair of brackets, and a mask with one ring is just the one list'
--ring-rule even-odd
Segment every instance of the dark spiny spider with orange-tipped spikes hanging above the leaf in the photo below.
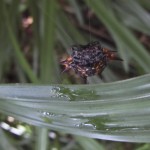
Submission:
{"label": "dark spiny spider with orange-tipped spikes hanging above the leaf", "polygon": [[95,41],[87,45],[73,45],[71,55],[60,63],[65,66],[63,72],[73,69],[80,77],[87,79],[88,76],[101,74],[110,60],[122,61],[116,51],[104,48],[99,41]]}

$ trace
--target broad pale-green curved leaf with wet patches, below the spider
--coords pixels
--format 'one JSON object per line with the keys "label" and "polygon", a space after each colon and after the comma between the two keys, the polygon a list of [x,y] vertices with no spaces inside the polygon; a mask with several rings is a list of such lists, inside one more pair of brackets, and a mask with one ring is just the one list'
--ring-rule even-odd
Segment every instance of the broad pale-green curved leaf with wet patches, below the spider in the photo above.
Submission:
{"label": "broad pale-green curved leaf with wet patches, below the spider", "polygon": [[150,74],[97,85],[1,85],[0,111],[67,133],[150,142]]}

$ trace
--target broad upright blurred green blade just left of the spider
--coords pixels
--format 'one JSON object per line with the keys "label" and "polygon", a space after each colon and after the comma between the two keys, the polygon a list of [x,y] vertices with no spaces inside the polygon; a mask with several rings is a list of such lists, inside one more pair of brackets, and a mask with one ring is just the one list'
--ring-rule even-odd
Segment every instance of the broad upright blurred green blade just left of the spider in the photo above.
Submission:
{"label": "broad upright blurred green blade just left of the spider", "polygon": [[56,1],[43,1],[42,9],[47,14],[43,14],[43,28],[41,34],[42,49],[40,51],[41,68],[40,74],[41,79],[45,83],[56,83],[56,55],[55,55],[55,29],[56,22],[54,18],[57,17],[57,2]]}

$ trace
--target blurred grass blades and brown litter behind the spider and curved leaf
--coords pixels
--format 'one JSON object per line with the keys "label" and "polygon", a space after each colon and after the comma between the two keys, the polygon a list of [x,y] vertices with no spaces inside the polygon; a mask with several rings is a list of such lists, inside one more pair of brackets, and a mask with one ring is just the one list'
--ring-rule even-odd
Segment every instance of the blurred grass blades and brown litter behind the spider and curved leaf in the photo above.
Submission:
{"label": "blurred grass blades and brown litter behind the spider and curved leaf", "polygon": [[[79,84],[83,81],[59,62],[74,44],[101,41],[117,50],[123,62],[112,62],[89,84],[150,73],[149,0],[1,0],[1,83]],[[91,38],[90,38],[91,35]],[[148,150],[149,144],[92,140],[21,123],[0,114],[1,125],[25,127],[24,134],[0,129],[1,149]],[[47,136],[46,136],[47,135]],[[40,141],[40,142],[39,142]]]}

